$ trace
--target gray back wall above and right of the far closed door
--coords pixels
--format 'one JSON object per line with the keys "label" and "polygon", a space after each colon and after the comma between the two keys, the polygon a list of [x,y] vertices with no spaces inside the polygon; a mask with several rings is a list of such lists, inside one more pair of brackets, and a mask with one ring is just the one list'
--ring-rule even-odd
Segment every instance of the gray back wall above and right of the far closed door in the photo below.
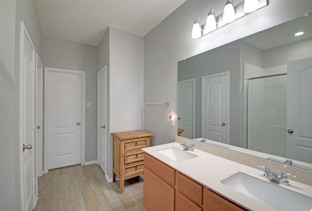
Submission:
{"label": "gray back wall above and right of the far closed door", "polygon": [[42,63],[45,67],[86,72],[85,161],[97,160],[97,47],[42,36]]}

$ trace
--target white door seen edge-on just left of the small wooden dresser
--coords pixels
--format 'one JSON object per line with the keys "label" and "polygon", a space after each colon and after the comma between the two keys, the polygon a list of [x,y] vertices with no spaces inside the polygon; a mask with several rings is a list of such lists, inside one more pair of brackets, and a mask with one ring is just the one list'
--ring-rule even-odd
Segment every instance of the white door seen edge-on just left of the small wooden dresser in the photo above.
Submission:
{"label": "white door seen edge-on just left of the small wooden dresser", "polygon": [[98,71],[98,165],[106,169],[106,66]]}

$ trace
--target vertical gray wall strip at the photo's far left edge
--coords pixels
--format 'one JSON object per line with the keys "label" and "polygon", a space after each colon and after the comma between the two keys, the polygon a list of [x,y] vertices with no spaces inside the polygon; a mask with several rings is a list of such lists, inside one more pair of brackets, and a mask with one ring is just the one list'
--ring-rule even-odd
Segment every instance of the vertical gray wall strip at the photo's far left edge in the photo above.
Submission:
{"label": "vertical gray wall strip at the photo's far left edge", "polygon": [[[15,11],[16,1],[0,1],[0,210],[20,208],[17,184],[16,147],[19,146],[15,129]],[[16,204],[17,203],[17,204]]]}

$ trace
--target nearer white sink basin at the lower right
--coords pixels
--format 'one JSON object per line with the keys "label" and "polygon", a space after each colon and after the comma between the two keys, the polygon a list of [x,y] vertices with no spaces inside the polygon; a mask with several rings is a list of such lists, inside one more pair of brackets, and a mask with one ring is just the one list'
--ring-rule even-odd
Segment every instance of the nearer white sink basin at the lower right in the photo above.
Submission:
{"label": "nearer white sink basin at the lower right", "polygon": [[241,172],[221,183],[281,211],[312,211],[312,198]]}

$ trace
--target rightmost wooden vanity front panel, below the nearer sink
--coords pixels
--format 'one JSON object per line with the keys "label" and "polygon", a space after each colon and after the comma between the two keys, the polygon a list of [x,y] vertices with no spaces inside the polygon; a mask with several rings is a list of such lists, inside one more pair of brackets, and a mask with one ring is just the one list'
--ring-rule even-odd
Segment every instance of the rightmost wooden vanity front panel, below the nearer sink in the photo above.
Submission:
{"label": "rightmost wooden vanity front panel, below the nearer sink", "polygon": [[204,211],[247,211],[208,188],[204,188],[203,202]]}

